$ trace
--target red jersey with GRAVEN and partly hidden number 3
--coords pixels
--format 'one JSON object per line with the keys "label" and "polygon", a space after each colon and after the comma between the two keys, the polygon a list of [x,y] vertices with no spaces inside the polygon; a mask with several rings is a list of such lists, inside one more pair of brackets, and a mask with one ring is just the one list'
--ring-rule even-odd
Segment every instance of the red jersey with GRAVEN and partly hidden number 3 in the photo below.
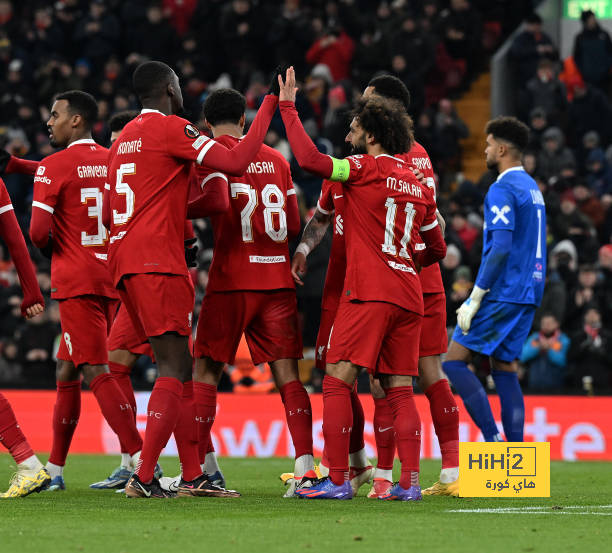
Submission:
{"label": "red jersey with GRAVEN and partly hidden number 3", "polygon": [[[77,140],[43,159],[34,177],[32,209],[53,215],[51,297],[117,297],[107,265],[102,196],[108,150]],[[34,215],[33,215],[34,217]]]}

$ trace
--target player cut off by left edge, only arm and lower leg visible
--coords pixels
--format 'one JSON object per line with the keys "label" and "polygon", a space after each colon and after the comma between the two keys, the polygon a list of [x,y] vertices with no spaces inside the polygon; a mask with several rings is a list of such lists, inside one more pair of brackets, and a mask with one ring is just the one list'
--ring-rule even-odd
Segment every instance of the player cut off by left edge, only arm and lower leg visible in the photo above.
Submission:
{"label": "player cut off by left edge, only arm and lower leg visible", "polygon": [[[21,314],[26,319],[31,319],[42,313],[45,301],[38,287],[36,272],[17,223],[11,198],[2,179],[0,179],[0,237],[8,246],[9,254],[17,268],[23,290]],[[17,471],[11,479],[9,489],[0,493],[1,499],[25,497],[41,491],[51,482],[49,473],[32,451],[17,423],[11,404],[2,393],[0,393],[0,442],[9,450],[17,464]]]}

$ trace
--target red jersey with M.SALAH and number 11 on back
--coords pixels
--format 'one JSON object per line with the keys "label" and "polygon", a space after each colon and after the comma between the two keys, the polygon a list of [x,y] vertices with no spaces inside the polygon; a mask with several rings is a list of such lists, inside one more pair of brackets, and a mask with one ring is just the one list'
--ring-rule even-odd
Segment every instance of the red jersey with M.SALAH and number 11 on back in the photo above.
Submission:
{"label": "red jersey with M.SALAH and number 11 on back", "polygon": [[384,301],[423,314],[414,265],[419,232],[438,224],[433,192],[408,164],[387,154],[346,158],[342,184],[347,267],[343,295]]}

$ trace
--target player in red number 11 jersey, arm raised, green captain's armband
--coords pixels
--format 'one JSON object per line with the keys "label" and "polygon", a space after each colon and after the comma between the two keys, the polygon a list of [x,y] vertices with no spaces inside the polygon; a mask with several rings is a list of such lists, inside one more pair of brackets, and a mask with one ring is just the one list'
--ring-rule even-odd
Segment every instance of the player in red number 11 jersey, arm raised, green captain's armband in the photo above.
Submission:
{"label": "player in red number 11 jersey, arm raised, green captain's armband", "polygon": [[[418,373],[423,298],[418,266],[446,252],[432,191],[390,152],[408,151],[411,121],[392,101],[374,97],[354,111],[347,140],[358,154],[344,160],[323,155],[312,144],[295,111],[295,73],[281,84],[281,116],[300,165],[342,182],[347,270],[331,331],[323,381],[323,434],[329,477],[303,498],[350,499],[348,452],[353,422],[351,388],[365,367],[381,379],[393,410],[402,475],[383,499],[418,500],[420,419],[412,394]],[[427,248],[415,252],[422,239]]]}

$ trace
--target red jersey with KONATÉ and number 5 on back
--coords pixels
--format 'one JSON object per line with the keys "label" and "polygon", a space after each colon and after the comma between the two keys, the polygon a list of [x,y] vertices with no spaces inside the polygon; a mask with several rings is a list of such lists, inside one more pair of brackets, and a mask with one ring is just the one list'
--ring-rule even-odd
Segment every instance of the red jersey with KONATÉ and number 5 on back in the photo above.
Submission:
{"label": "red jersey with KONAT\u00c9 and number 5 on back", "polygon": [[189,121],[143,109],[109,154],[109,261],[126,274],[186,275],[183,250],[192,162],[214,144]]}

